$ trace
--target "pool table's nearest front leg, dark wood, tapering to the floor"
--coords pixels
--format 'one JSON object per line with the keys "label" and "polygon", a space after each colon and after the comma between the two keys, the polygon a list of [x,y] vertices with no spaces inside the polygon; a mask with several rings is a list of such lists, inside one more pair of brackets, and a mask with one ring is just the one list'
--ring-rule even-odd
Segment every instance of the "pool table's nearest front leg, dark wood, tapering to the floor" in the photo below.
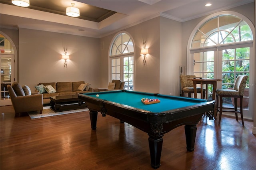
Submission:
{"label": "pool table's nearest front leg, dark wood, tapering to the floor", "polygon": [[160,158],[163,145],[162,136],[159,136],[159,138],[154,138],[153,136],[149,135],[148,144],[150,150],[151,166],[152,168],[157,169],[160,166]]}

